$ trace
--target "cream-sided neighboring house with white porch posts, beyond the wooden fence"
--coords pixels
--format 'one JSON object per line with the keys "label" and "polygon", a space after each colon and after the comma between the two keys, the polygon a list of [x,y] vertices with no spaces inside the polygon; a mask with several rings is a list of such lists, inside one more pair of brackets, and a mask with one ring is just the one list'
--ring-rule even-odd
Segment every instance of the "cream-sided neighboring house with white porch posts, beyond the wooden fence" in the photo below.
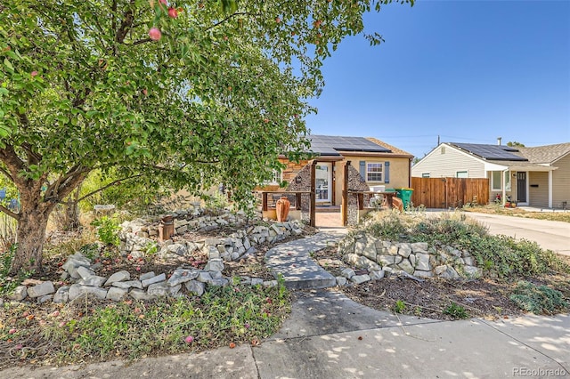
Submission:
{"label": "cream-sided neighboring house with white porch posts, beyond the wooden fence", "polygon": [[411,176],[487,178],[490,198],[522,206],[567,208],[570,142],[534,148],[444,142],[411,167]]}

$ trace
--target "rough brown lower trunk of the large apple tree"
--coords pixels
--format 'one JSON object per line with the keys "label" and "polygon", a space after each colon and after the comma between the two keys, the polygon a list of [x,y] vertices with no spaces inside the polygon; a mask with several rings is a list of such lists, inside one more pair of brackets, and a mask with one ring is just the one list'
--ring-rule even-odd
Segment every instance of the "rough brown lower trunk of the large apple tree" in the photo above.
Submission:
{"label": "rough brown lower trunk of the large apple tree", "polygon": [[41,207],[23,208],[17,229],[17,250],[12,261],[12,274],[20,270],[42,272],[45,228],[51,211],[42,212]]}

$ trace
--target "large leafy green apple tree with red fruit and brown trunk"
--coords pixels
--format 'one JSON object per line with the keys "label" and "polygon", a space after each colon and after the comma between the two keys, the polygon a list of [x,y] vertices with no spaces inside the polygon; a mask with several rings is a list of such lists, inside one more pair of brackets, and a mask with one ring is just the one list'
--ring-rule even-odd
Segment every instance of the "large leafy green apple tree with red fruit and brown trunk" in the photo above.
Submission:
{"label": "large leafy green apple tree with red fruit and brown trunk", "polygon": [[[41,270],[54,206],[114,167],[247,198],[305,145],[306,99],[389,0],[0,3],[0,172],[20,192],[12,270]],[[367,36],[372,44],[378,35]]]}

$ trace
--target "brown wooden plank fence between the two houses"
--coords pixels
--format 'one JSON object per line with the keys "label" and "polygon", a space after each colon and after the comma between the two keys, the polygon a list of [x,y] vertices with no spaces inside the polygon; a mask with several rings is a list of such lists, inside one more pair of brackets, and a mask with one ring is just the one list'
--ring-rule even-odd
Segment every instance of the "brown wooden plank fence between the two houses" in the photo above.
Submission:
{"label": "brown wooden plank fence between the two houses", "polygon": [[411,178],[413,206],[455,208],[489,202],[489,180],[467,178]]}

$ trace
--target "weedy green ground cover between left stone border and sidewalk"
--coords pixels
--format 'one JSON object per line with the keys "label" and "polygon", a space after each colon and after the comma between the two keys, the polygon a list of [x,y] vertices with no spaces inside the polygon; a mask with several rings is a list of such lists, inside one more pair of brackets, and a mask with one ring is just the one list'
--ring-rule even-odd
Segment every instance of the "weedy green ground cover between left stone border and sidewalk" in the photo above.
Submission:
{"label": "weedy green ground cover between left stone border and sidewalk", "polygon": [[[32,337],[50,343],[41,351],[59,363],[95,360],[140,359],[159,354],[201,351],[229,343],[258,343],[275,333],[290,310],[289,292],[282,286],[211,287],[201,297],[161,298],[156,302],[69,303],[53,313],[29,304],[4,304],[0,309],[0,343],[15,359],[37,359],[37,349],[24,355]],[[22,318],[23,312],[35,319]],[[51,312],[51,310],[50,310]],[[39,319],[43,319],[42,325]],[[11,329],[17,333],[10,334]],[[191,336],[191,342],[186,337]],[[10,342],[8,342],[10,340]],[[29,351],[29,349],[28,349]],[[0,365],[2,362],[0,362]],[[1,366],[0,366],[1,367]]]}

